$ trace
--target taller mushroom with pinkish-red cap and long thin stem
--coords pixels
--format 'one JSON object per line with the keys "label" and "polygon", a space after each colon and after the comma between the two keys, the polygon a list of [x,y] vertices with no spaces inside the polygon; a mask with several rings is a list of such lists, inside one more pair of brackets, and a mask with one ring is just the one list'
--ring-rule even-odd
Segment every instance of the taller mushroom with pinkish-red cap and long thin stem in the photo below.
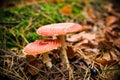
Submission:
{"label": "taller mushroom with pinkish-red cap and long thin stem", "polygon": [[37,34],[43,36],[57,36],[58,39],[61,40],[62,54],[67,65],[67,69],[70,70],[71,68],[66,52],[65,35],[68,33],[78,32],[82,30],[83,30],[82,26],[77,23],[56,23],[40,27],[37,30]]}

